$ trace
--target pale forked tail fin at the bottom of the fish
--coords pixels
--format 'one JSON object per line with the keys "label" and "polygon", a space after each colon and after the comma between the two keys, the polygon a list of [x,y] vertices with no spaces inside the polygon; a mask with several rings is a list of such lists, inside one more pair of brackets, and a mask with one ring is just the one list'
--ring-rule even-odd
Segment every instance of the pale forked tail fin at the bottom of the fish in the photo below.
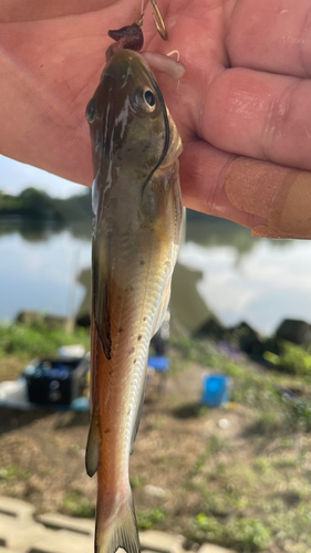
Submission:
{"label": "pale forked tail fin at the bottom of the fish", "polygon": [[108,518],[103,505],[97,503],[95,553],[115,553],[118,547],[126,553],[141,553],[131,490],[127,500],[116,507]]}

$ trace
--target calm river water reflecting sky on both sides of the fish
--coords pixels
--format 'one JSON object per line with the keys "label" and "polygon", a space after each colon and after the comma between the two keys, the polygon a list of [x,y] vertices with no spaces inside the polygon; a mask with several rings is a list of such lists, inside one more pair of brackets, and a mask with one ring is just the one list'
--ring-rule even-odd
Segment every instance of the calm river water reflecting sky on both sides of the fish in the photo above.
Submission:
{"label": "calm river water reflecting sky on both sides of the fish", "polygon": [[[90,280],[91,230],[1,223],[0,260],[0,320],[24,310],[72,315],[85,296],[77,276]],[[207,307],[266,335],[284,317],[311,323],[311,242],[253,239],[237,225],[189,217],[173,300],[190,330]]]}

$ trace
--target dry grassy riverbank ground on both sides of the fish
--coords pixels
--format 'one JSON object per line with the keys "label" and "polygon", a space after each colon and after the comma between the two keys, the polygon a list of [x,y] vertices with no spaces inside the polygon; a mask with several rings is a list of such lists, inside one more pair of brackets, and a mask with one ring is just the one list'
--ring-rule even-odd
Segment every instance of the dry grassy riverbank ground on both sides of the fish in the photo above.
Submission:
{"label": "dry grassy riverbank ground on both sides of the fish", "polygon": [[[89,332],[0,324],[0,382],[70,343],[87,347]],[[139,529],[183,534],[194,549],[212,542],[240,553],[311,550],[308,347],[283,342],[269,368],[232,344],[201,338],[173,338],[168,355],[166,395],[157,396],[155,375],[131,458]],[[200,404],[207,372],[230,376],[229,405]],[[94,517],[95,483],[84,470],[87,428],[89,414],[1,409],[0,493],[32,502],[38,513]]]}

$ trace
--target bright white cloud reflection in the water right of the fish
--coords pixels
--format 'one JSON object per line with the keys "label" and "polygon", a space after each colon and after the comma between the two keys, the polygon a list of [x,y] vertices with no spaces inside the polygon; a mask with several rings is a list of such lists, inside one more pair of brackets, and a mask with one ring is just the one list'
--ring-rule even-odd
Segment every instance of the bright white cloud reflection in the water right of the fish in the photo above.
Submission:
{"label": "bright white cloud reflection in the water right of the fish", "polygon": [[246,321],[271,335],[283,319],[311,323],[311,242],[260,239],[239,257],[232,247],[186,242],[179,263],[203,272],[198,292],[227,326]]}

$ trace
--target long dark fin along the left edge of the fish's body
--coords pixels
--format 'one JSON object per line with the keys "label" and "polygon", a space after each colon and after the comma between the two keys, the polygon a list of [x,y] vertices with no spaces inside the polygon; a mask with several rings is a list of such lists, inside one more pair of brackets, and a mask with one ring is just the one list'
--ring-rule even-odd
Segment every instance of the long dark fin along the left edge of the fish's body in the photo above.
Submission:
{"label": "long dark fin along the left edge of the fish's body", "polygon": [[111,359],[110,239],[100,232],[93,241],[93,312],[104,354]]}

